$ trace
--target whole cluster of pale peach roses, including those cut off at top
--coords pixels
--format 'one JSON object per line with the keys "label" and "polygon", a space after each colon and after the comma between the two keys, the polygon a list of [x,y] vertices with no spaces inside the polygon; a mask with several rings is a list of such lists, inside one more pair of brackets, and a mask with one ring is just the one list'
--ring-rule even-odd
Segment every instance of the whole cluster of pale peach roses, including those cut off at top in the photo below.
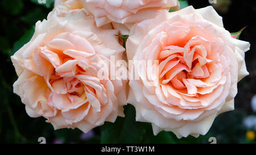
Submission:
{"label": "whole cluster of pale peach roses, including those cut off at top", "polygon": [[[250,44],[233,38],[213,7],[170,8],[178,10],[179,2],[56,0],[30,42],[11,57],[19,76],[14,92],[27,114],[47,118],[55,129],[88,132],[123,117],[122,106],[130,103],[136,120],[152,123],[155,135],[206,134],[218,114],[234,109]],[[119,34],[129,35],[126,49]],[[99,79],[97,62],[109,63],[113,55],[157,60],[158,74],[135,63],[143,80]]]}

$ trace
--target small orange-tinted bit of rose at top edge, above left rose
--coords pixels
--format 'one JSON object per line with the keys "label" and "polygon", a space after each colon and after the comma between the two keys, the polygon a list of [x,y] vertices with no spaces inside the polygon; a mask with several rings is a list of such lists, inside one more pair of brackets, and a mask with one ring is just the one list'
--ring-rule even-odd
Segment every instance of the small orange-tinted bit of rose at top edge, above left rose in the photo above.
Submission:
{"label": "small orange-tinted bit of rose at top edge, above left rose", "polygon": [[57,15],[63,17],[68,13],[75,14],[82,8],[82,4],[78,0],[55,0],[53,10],[57,11]]}

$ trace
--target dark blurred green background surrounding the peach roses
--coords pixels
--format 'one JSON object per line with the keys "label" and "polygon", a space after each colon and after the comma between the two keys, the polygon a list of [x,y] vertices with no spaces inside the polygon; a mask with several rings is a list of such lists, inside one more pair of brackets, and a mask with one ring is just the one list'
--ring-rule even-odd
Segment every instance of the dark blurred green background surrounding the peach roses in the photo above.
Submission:
{"label": "dark blurred green background surrounding the peach roses", "polygon": [[[197,139],[192,136],[177,139],[171,132],[152,135],[149,123],[135,122],[135,109],[131,105],[125,106],[126,118],[118,118],[115,123],[106,122],[87,134],[78,129],[55,131],[51,124],[45,122],[46,119],[28,117],[19,96],[13,93],[13,83],[18,77],[10,55],[30,40],[36,21],[47,18],[53,3],[53,0],[47,0],[43,5],[39,5],[37,0],[0,2],[0,143],[38,143],[39,137],[46,137],[47,143],[209,143],[212,136],[216,137],[217,143],[256,143],[255,1],[217,0],[213,5],[229,32],[247,27],[240,40],[251,44],[245,54],[250,75],[238,83],[235,110],[220,114],[208,134]],[[208,0],[191,0],[188,3],[195,8],[210,5]],[[127,136],[129,134],[132,136]]]}

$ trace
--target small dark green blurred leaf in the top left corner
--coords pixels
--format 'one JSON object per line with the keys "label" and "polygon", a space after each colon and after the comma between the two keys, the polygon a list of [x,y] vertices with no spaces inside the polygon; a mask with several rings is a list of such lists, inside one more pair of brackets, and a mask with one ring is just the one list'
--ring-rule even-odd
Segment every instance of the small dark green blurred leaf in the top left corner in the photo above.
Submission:
{"label": "small dark green blurred leaf in the top left corner", "polygon": [[23,1],[20,0],[3,0],[3,8],[11,15],[18,15],[24,8]]}

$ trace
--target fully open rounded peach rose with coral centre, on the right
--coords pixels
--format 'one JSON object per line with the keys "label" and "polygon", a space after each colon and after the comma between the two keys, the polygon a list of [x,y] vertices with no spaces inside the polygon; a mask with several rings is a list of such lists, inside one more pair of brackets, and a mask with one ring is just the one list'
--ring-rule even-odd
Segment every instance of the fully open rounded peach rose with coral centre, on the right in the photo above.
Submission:
{"label": "fully open rounded peach rose with coral centre, on the right", "polygon": [[244,60],[249,48],[249,42],[232,38],[211,6],[163,11],[134,25],[128,59],[159,61],[158,74],[134,63],[143,79],[129,83],[127,102],[135,106],[136,119],[151,122],[155,135],[162,130],[179,138],[205,135],[218,114],[234,109],[237,82],[249,74]]}

